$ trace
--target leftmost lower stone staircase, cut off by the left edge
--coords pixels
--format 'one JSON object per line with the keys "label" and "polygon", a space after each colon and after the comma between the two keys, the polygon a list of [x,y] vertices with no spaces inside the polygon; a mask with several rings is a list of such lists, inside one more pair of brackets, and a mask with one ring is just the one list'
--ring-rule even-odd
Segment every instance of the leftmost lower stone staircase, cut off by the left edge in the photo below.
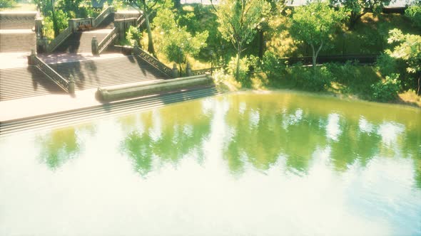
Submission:
{"label": "leftmost lower stone staircase, cut off by the left edge", "polygon": [[34,65],[0,69],[0,101],[64,93]]}

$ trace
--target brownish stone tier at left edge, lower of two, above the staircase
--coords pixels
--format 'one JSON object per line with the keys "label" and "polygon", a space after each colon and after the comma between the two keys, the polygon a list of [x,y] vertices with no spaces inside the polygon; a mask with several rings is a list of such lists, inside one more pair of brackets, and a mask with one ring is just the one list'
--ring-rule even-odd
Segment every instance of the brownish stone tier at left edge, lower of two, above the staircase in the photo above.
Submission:
{"label": "brownish stone tier at left edge, lower of two, above the staircase", "polygon": [[36,35],[34,32],[16,32],[12,30],[0,31],[0,53],[31,52],[36,48]]}

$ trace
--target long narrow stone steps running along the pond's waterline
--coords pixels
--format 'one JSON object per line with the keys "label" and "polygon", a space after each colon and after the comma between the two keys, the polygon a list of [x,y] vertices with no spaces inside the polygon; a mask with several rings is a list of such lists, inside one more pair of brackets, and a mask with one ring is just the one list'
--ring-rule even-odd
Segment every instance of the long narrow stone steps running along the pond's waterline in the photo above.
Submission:
{"label": "long narrow stone steps running along the pond's waterline", "polygon": [[70,124],[88,122],[93,119],[130,114],[146,109],[163,107],[174,102],[198,99],[218,95],[220,92],[215,87],[196,87],[190,90],[152,95],[121,102],[103,104],[96,107],[87,107],[67,112],[58,112],[36,117],[27,117],[1,122],[0,135],[16,132],[33,131],[35,129],[51,129],[52,127],[65,127]]}

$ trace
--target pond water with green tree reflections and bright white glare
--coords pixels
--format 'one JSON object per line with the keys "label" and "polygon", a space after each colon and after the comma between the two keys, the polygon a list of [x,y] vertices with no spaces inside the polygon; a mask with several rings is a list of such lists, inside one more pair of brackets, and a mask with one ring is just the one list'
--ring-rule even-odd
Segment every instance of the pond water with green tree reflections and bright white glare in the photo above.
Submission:
{"label": "pond water with green tree reflections and bright white glare", "polygon": [[0,235],[421,235],[421,109],[250,92],[3,136]]}

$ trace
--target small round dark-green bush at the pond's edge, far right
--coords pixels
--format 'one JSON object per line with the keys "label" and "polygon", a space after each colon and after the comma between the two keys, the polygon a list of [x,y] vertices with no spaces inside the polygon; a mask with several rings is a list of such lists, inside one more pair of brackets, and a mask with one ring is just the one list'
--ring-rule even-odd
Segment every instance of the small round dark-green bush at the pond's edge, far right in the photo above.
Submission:
{"label": "small round dark-green bush at the pond's edge, far right", "polygon": [[400,91],[400,81],[397,80],[399,74],[392,74],[386,76],[385,80],[379,81],[371,85],[372,98],[380,102],[388,102],[397,97],[397,92]]}

